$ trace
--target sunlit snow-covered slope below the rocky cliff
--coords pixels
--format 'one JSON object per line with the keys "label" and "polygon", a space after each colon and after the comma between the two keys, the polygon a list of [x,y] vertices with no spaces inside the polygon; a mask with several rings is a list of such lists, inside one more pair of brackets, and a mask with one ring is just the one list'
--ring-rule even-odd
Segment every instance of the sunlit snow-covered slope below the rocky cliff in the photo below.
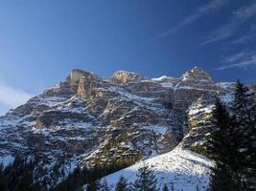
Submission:
{"label": "sunlit snow-covered slope below the rocky cliff", "polygon": [[[213,162],[189,150],[183,150],[177,146],[173,151],[160,156],[146,159],[146,163],[154,169],[158,186],[166,183],[170,190],[174,186],[175,191],[200,191],[207,190],[209,184],[210,167]],[[132,183],[137,179],[136,174],[141,162],[129,166],[123,170],[106,176],[111,190],[114,190],[116,182],[121,176]],[[103,180],[104,180],[103,179]]]}

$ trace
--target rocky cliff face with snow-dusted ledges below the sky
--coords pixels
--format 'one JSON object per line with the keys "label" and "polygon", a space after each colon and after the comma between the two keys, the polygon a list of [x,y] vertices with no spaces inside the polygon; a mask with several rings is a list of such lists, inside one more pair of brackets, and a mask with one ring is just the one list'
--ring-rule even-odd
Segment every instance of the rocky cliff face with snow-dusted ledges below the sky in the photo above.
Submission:
{"label": "rocky cliff face with snow-dusted ledges below the sky", "polygon": [[0,117],[0,158],[35,160],[35,180],[49,188],[78,166],[150,157],[180,141],[200,144],[212,128],[214,96],[228,99],[231,92],[232,84],[216,84],[198,67],[152,79],[73,70]]}

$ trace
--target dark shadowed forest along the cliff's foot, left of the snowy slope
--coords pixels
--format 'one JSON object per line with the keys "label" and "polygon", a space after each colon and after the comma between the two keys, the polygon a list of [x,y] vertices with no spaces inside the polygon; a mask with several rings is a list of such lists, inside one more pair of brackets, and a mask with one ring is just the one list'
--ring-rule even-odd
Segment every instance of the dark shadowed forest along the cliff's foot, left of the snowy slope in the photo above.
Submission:
{"label": "dark shadowed forest along the cliff's foot, left of the snowy slope", "polygon": [[[112,164],[100,164],[96,162],[94,167],[77,168],[66,180],[60,182],[51,191],[75,191],[81,190],[82,185],[89,184],[97,187],[95,182],[106,175],[126,168],[139,160],[140,156],[120,158]],[[40,191],[46,190],[46,185],[35,183],[35,163],[26,159],[16,158],[9,166],[0,165],[0,191]],[[89,188],[88,188],[89,189]]]}

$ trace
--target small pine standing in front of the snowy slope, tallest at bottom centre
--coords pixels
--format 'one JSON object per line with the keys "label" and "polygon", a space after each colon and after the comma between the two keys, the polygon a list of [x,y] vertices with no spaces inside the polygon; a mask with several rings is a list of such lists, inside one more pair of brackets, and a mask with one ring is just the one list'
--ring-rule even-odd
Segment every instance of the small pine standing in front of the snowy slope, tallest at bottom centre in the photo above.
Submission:
{"label": "small pine standing in front of the snowy slope, tallest at bottom centre", "polygon": [[143,161],[142,166],[138,169],[138,180],[135,180],[133,189],[137,191],[158,191],[157,180],[153,174],[153,170]]}

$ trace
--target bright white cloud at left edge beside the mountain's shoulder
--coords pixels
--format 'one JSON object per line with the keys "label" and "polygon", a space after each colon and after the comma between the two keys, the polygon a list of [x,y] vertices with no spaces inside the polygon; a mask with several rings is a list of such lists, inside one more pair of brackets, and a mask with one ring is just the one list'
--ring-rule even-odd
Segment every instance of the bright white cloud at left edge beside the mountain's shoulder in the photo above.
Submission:
{"label": "bright white cloud at left edge beside the mountain's shoulder", "polygon": [[17,107],[20,104],[25,103],[32,95],[13,89],[12,87],[0,84],[0,104],[7,105],[11,108]]}

